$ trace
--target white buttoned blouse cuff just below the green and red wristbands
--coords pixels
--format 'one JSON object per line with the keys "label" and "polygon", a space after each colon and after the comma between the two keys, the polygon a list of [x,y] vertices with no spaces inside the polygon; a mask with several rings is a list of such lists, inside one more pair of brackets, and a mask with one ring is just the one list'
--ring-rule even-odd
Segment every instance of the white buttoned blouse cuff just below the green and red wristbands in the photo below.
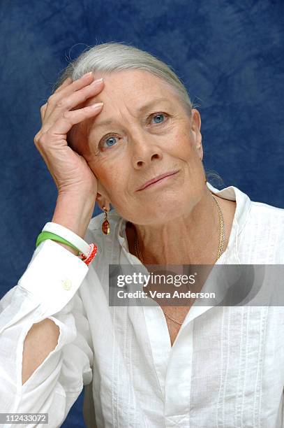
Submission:
{"label": "white buttoned blouse cuff just below the green and red wristbands", "polygon": [[46,239],[33,253],[18,286],[29,292],[43,315],[53,315],[72,299],[88,271],[87,264],[79,257]]}

